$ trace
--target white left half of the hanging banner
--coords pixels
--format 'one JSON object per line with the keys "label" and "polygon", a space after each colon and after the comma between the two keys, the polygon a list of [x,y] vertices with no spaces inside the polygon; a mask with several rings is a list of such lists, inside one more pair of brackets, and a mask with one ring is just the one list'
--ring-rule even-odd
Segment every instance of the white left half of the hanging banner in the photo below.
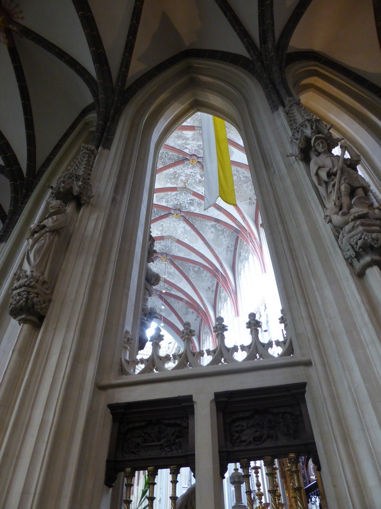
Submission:
{"label": "white left half of the hanging banner", "polygon": [[219,196],[217,152],[213,117],[206,113],[201,114],[202,147],[204,156],[204,210],[215,204]]}

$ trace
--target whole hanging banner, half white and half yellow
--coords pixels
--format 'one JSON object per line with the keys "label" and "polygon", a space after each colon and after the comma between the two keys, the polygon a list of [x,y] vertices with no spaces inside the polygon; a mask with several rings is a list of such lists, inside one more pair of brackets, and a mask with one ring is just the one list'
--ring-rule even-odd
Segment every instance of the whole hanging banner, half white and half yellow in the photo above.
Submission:
{"label": "whole hanging banner, half white and half yellow", "polygon": [[234,192],[225,121],[201,114],[204,157],[204,210],[215,204],[218,196],[229,205],[237,205]]}

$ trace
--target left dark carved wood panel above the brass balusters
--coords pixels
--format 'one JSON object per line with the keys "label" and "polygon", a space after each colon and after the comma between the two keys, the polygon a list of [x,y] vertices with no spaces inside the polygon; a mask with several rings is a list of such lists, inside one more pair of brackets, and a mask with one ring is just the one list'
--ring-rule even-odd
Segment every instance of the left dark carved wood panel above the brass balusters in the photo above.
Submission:
{"label": "left dark carved wood panel above the brass balusters", "polygon": [[112,415],[105,484],[112,487],[125,468],[194,467],[192,396],[108,405]]}

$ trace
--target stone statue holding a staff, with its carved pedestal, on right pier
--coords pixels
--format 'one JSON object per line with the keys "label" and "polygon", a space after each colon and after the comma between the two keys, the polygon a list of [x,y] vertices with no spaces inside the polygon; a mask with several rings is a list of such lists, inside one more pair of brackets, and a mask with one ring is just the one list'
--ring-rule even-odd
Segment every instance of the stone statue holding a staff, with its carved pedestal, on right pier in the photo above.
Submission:
{"label": "stone statue holding a staff, with its carved pedestal, on right pier", "polygon": [[[345,258],[360,276],[372,265],[381,267],[381,213],[374,209],[369,186],[358,173],[359,154],[342,144],[340,156],[334,155],[321,135],[312,138],[312,149],[311,177]],[[346,149],[351,158],[344,158]]]}

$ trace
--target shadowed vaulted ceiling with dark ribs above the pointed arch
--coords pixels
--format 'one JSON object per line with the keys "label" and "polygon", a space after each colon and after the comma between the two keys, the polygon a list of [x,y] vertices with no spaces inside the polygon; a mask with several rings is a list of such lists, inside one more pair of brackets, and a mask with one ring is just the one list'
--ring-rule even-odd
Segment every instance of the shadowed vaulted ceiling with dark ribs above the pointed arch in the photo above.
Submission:
{"label": "shadowed vaulted ceiling with dark ribs above the pointed arch", "polygon": [[85,115],[109,148],[123,107],[187,56],[243,67],[273,109],[299,60],[381,86],[379,0],[0,0],[0,37],[1,241]]}

